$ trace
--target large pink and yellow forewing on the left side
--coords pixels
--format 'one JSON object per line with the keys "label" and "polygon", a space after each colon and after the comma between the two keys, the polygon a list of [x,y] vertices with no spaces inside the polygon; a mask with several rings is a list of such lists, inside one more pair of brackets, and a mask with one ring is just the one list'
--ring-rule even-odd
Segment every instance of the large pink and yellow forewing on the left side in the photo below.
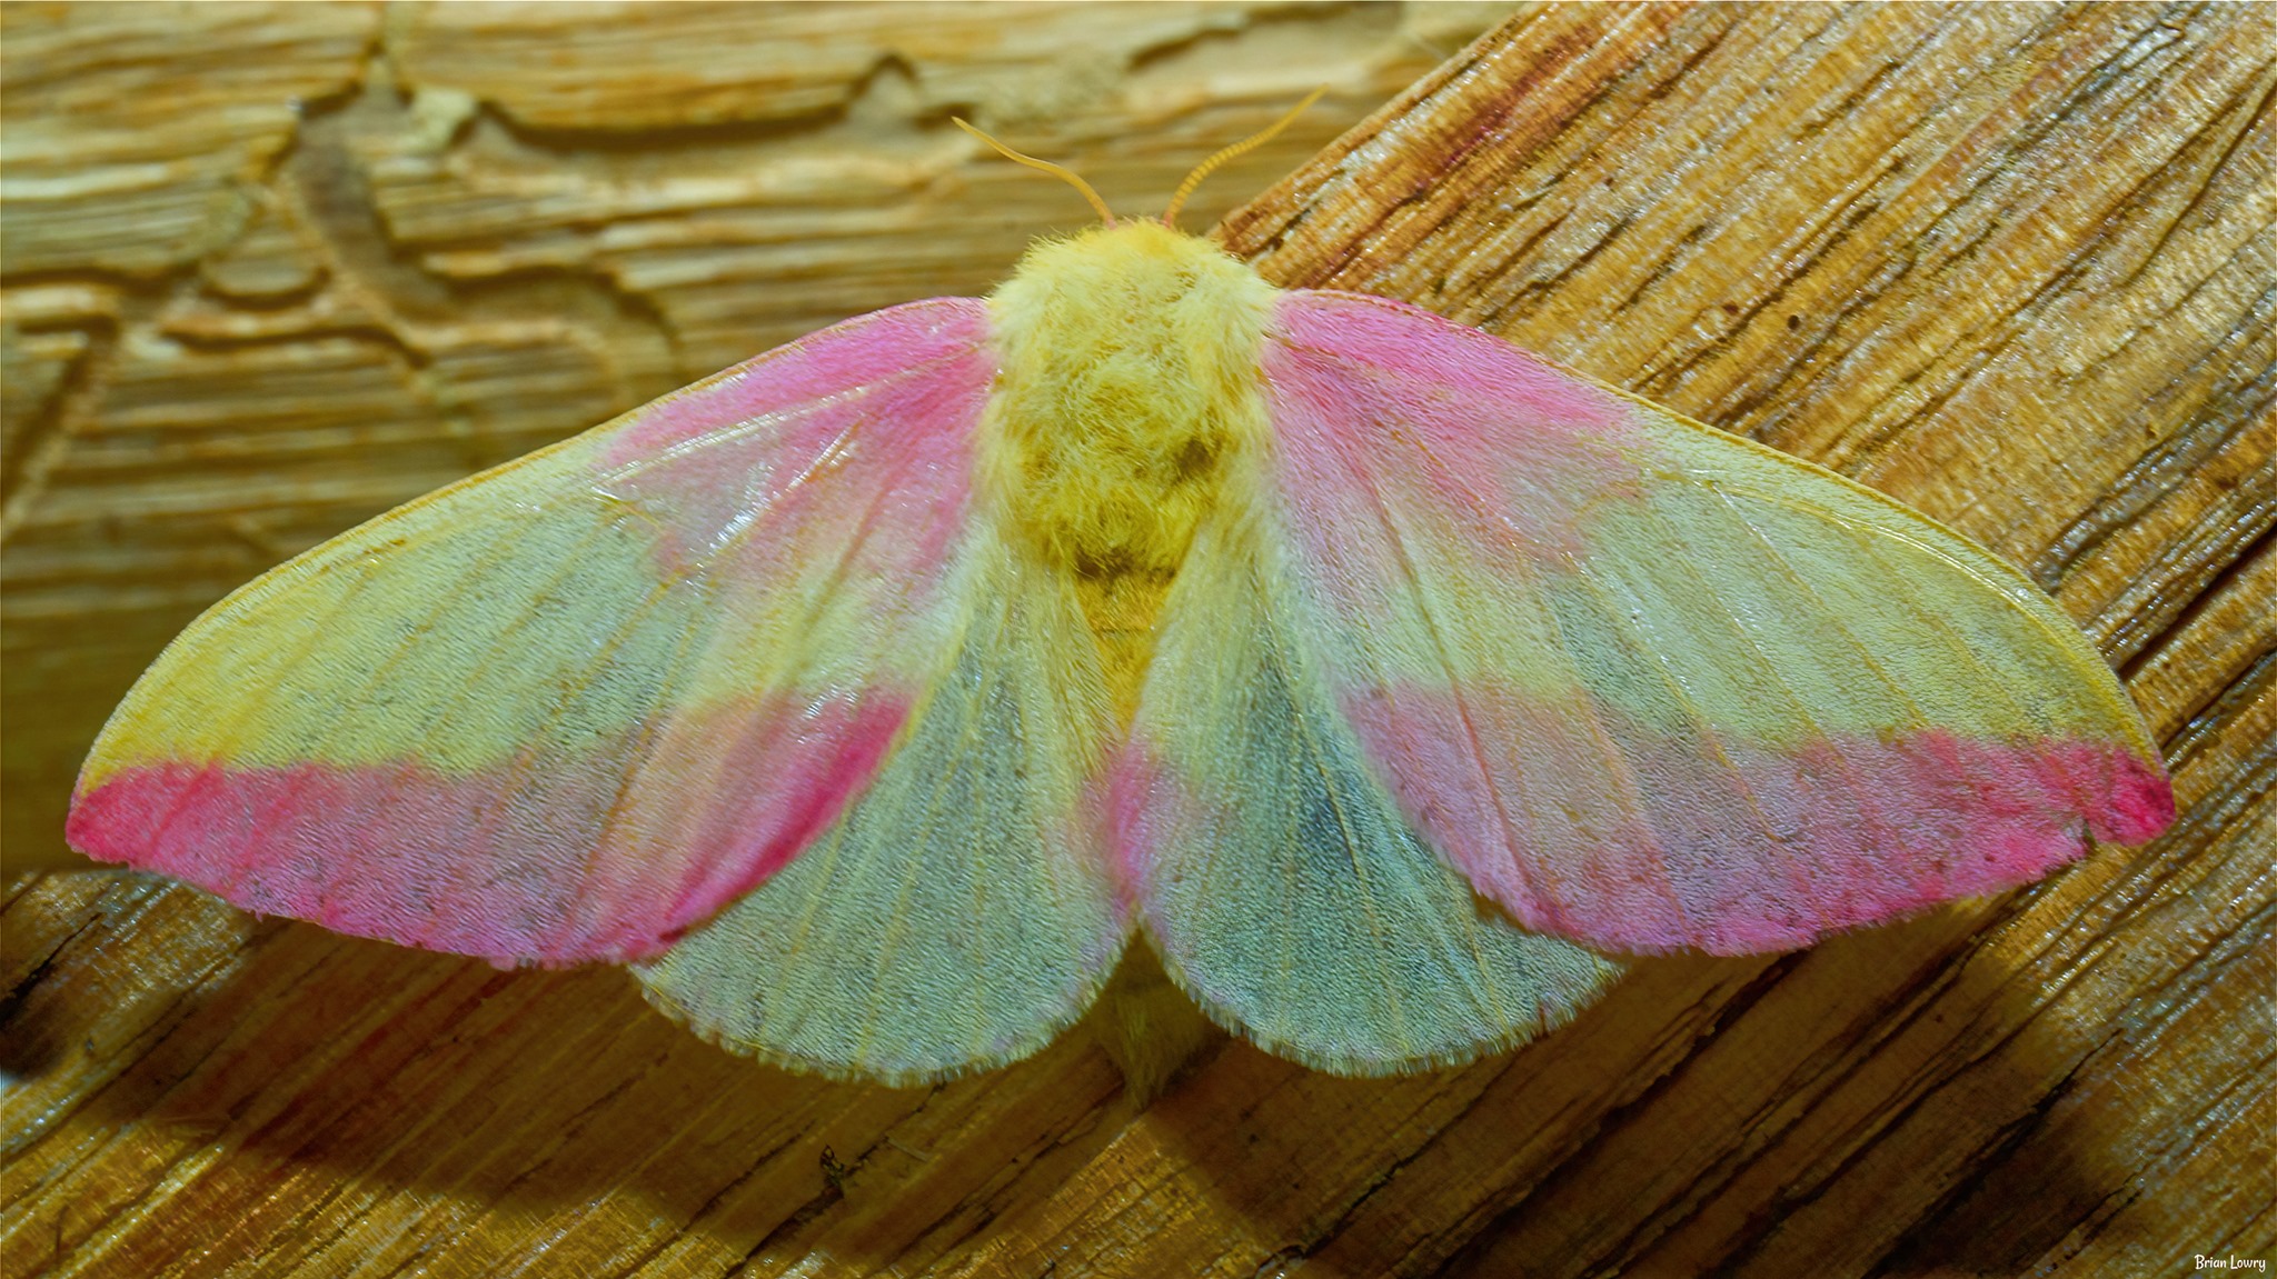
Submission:
{"label": "large pink and yellow forewing on the left side", "polygon": [[986,325],[849,321],[278,567],[134,685],[71,842],[344,933],[660,954],[938,678]]}

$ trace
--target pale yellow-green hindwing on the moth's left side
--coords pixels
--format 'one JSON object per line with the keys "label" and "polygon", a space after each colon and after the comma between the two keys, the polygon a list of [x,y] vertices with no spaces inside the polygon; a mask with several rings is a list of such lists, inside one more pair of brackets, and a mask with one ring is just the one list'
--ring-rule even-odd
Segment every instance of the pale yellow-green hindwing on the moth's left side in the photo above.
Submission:
{"label": "pale yellow-green hindwing on the moth's left side", "polygon": [[845,819],[638,969],[706,1038],[927,1083],[1041,1049],[1120,958],[1093,797],[1113,717],[1075,587],[988,521],[956,574],[945,678]]}

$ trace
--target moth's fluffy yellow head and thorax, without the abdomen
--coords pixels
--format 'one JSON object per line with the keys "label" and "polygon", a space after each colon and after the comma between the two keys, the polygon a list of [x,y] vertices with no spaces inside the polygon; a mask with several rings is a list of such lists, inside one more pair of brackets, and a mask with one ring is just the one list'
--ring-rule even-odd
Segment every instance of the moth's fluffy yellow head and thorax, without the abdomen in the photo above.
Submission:
{"label": "moth's fluffy yellow head and thorax, without the abdomen", "polygon": [[979,476],[1047,562],[1166,574],[1264,432],[1273,287],[1161,223],[1038,241],[990,298],[1000,373]]}

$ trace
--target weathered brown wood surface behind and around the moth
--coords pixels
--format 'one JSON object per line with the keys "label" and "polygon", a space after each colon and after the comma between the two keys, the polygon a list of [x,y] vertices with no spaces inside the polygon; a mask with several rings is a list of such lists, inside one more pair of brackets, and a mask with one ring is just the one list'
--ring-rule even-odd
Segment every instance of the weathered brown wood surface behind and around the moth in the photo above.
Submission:
{"label": "weathered brown wood surface behind and around the moth", "polygon": [[[1341,118],[1223,196],[1421,73],[1403,23],[1432,20],[5,18],[11,860],[52,847],[109,699],[237,580],[781,337],[979,291],[1082,216],[984,164],[947,109],[1145,207],[1339,86]],[[824,1083],[694,1042],[617,972],[501,974],[132,876],[20,874],[0,919],[7,1272],[2270,1256],[2270,9],[1526,9],[1225,239],[1277,280],[1482,323],[1983,539],[2127,676],[2181,822],[1812,951],[1639,963],[1576,1024],[1466,1070],[1339,1081],[1227,1042],[1145,1111],[1082,1035],[934,1090]]]}

